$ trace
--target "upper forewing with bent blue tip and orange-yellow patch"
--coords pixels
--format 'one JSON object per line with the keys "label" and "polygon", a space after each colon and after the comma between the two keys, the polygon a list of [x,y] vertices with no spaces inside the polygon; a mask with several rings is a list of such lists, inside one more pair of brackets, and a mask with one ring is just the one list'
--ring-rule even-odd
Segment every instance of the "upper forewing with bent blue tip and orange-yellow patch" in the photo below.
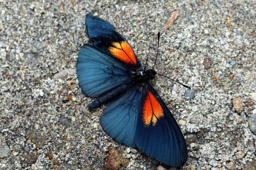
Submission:
{"label": "upper forewing with bent blue tip and orange-yellow patch", "polygon": [[85,25],[89,40],[97,49],[113,56],[130,68],[141,68],[130,44],[121,34],[114,31],[113,25],[92,15],[86,15]]}

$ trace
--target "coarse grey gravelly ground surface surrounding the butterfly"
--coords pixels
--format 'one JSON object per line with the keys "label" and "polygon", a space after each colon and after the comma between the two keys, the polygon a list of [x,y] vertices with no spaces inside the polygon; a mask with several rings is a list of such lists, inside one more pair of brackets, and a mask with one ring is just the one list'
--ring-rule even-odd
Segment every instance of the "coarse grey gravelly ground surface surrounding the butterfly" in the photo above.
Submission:
{"label": "coarse grey gravelly ground surface surrounding the butterfly", "polygon": [[0,167],[103,169],[111,148],[119,168],[173,169],[113,141],[100,127],[104,107],[86,109],[76,64],[91,13],[142,63],[150,47],[150,66],[161,32],[156,71],[192,88],[152,82],[187,141],[184,169],[255,169],[255,10],[255,1],[0,0]]}

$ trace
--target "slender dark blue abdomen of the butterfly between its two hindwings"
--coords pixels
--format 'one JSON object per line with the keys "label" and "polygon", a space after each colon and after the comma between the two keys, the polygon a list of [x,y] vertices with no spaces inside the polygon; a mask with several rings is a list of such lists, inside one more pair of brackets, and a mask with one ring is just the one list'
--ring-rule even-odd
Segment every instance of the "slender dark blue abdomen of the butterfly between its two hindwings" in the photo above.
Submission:
{"label": "slender dark blue abdomen of the butterfly between its two hindwings", "polygon": [[87,107],[89,109],[99,108],[102,104],[110,102],[120,94],[123,94],[127,89],[129,89],[129,87],[130,87],[130,82],[124,83],[121,86],[117,87],[116,89],[113,89],[105,93],[104,95],[100,96],[95,101],[88,104]]}

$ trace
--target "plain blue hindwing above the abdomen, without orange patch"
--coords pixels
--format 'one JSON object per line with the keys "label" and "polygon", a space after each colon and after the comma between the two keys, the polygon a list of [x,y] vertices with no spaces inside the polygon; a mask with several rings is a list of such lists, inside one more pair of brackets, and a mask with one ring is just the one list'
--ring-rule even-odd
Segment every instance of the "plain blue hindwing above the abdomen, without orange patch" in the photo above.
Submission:
{"label": "plain blue hindwing above the abdomen, without orange patch", "polygon": [[77,74],[84,94],[98,97],[130,80],[130,70],[110,55],[85,44],[78,54]]}

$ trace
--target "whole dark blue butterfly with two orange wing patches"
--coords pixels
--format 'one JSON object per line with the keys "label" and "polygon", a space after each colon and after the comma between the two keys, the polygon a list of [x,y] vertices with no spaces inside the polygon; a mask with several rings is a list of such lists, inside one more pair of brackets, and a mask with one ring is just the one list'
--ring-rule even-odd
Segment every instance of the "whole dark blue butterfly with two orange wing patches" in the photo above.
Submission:
{"label": "whole dark blue butterfly with two orange wing patches", "polygon": [[100,117],[103,130],[152,159],[183,166],[184,136],[149,82],[157,73],[143,69],[130,44],[109,22],[87,14],[85,25],[93,46],[83,45],[78,54],[79,86],[85,95],[97,97],[89,109],[109,103]]}

